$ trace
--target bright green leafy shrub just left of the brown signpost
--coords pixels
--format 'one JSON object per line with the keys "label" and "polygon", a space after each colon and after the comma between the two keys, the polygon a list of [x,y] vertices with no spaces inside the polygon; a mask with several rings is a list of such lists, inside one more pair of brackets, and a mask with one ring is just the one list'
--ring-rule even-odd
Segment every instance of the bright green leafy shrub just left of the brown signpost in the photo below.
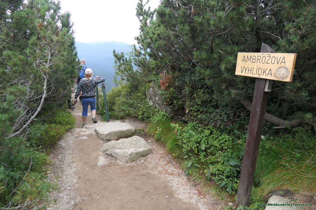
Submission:
{"label": "bright green leafy shrub just left of the brown signpost", "polygon": [[190,122],[177,136],[183,155],[188,158],[186,173],[198,167],[225,186],[229,193],[236,191],[243,156],[244,140],[220,133],[211,126]]}

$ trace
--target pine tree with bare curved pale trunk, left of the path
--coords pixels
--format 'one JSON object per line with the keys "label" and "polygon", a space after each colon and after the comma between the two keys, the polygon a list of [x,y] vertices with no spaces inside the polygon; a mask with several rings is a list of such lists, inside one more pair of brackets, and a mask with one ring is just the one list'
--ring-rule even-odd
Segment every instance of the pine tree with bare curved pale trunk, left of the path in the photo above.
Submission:
{"label": "pine tree with bare curved pale trunk, left of the path", "polygon": [[59,3],[19,3],[4,13],[0,37],[2,100],[12,95],[21,108],[11,136],[21,133],[43,106],[68,99],[78,64],[70,15],[60,14]]}

